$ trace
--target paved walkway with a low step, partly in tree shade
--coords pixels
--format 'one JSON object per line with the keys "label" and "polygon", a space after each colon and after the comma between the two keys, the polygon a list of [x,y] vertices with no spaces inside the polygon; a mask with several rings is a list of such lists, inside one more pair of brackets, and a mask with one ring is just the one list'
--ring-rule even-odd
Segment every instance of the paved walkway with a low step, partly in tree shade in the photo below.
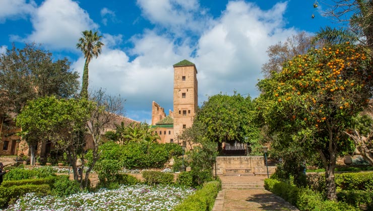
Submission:
{"label": "paved walkway with a low step, partly in tree shade", "polygon": [[[261,183],[264,184],[266,176],[221,176],[223,184]],[[243,211],[243,210],[298,210],[281,197],[264,188],[240,189],[223,188],[218,193],[213,211]]]}

